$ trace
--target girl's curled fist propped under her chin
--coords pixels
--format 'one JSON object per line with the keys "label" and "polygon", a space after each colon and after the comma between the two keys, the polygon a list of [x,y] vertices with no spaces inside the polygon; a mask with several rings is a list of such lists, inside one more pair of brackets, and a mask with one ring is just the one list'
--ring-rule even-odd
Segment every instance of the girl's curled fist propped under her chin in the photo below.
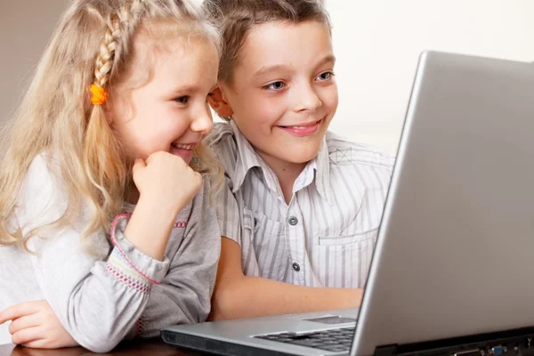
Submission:
{"label": "girl's curled fist propped under her chin", "polygon": [[152,153],[146,162],[135,160],[134,183],[140,200],[150,200],[155,206],[171,209],[176,214],[197,195],[202,176],[185,161],[171,153]]}

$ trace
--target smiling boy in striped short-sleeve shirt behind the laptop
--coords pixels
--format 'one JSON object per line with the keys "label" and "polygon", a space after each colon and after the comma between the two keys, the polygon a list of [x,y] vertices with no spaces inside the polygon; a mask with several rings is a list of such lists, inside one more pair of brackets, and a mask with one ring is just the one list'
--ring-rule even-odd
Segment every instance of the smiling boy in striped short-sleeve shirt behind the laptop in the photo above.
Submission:
{"label": "smiling boy in striped short-sleeve shirt behind the laptop", "polygon": [[393,159],[328,133],[337,108],[328,13],[312,0],[206,0],[223,32],[230,121],[210,141],[226,170],[214,320],[360,304]]}

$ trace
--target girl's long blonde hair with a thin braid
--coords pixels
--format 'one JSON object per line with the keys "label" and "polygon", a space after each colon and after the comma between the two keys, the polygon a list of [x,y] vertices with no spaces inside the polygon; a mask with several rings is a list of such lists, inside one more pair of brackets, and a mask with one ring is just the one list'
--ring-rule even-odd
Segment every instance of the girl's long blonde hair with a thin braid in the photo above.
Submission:
{"label": "girl's long blonde hair with a thin braid", "polygon": [[[48,226],[69,226],[86,205],[92,220],[82,237],[109,231],[109,219],[121,213],[132,162],[106,110],[92,104],[89,88],[101,86],[112,96],[133,61],[134,35],[158,25],[178,36],[200,37],[220,51],[217,30],[188,0],[76,0],[63,14],[20,108],[3,130],[0,246],[28,251],[28,239],[36,234],[21,236],[8,222],[28,166],[44,152],[58,162],[54,174],[60,174],[69,194],[65,214]],[[206,146],[194,153],[191,166],[220,182],[222,170]]]}

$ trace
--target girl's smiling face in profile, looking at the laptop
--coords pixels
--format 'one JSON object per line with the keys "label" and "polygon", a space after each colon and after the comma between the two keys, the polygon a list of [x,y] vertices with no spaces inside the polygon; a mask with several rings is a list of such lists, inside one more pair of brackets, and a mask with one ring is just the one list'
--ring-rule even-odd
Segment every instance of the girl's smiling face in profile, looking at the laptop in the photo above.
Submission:
{"label": "girl's smiling face in profile, looking at the laptop", "polygon": [[217,50],[192,37],[166,39],[156,50],[136,44],[134,51],[142,59],[134,60],[131,77],[149,72],[149,81],[126,94],[124,101],[114,102],[112,125],[130,158],[146,159],[161,150],[189,164],[193,150],[213,127],[207,97],[216,85]]}

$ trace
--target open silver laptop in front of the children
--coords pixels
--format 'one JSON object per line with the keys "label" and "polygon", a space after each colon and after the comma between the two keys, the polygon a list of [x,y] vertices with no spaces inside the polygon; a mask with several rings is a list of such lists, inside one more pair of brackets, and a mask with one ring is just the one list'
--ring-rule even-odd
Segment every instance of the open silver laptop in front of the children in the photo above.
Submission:
{"label": "open silver laptop in front of the children", "polygon": [[484,356],[528,354],[531,326],[534,64],[428,52],[360,311],[206,322],[161,335],[223,355]]}

